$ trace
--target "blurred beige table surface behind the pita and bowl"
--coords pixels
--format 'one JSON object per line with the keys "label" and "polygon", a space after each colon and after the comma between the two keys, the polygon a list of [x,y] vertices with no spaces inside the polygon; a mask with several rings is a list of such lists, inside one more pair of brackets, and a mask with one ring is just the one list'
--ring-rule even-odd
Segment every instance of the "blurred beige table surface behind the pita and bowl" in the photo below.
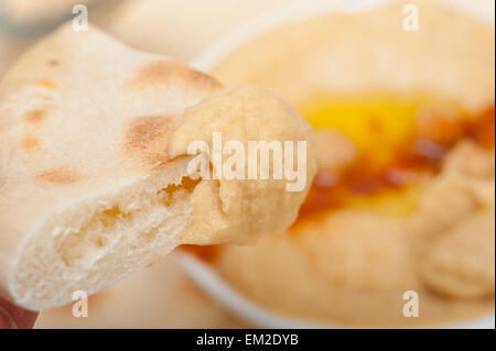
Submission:
{"label": "blurred beige table surface behind the pita and bowl", "polygon": [[[0,77],[26,47],[71,18],[77,3],[89,6],[91,23],[128,44],[188,63],[230,29],[296,1],[0,0]],[[97,294],[89,306],[88,318],[72,317],[71,307],[42,312],[36,327],[249,327],[196,287],[173,257]]]}

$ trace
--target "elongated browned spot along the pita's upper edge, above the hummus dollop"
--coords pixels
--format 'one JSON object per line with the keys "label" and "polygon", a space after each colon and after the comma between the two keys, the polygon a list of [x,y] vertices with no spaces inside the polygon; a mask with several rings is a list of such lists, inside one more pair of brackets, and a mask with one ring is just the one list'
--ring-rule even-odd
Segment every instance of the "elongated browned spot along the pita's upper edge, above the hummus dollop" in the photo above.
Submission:
{"label": "elongated browned spot along the pita's upper edge, above the hummus dollop", "polygon": [[139,68],[125,85],[129,88],[142,88],[169,84],[205,90],[222,87],[215,78],[172,61],[155,61],[147,64]]}

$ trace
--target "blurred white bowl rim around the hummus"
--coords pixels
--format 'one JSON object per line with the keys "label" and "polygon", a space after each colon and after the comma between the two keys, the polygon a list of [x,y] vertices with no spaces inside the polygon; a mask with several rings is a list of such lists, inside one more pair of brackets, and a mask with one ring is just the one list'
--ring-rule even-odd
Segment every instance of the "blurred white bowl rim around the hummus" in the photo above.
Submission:
{"label": "blurred white bowl rim around the hummus", "polygon": [[[222,37],[206,51],[195,57],[191,65],[200,70],[209,72],[227,55],[251,40],[270,32],[283,24],[301,21],[317,14],[328,12],[356,12],[366,11],[371,8],[386,6],[392,0],[314,0],[293,3],[283,9],[270,11],[245,25],[231,31]],[[494,8],[487,2],[475,2],[464,0],[445,0],[468,17],[494,25]],[[228,282],[207,263],[196,259],[185,251],[176,251],[175,259],[193,281],[222,306],[234,312],[244,320],[261,328],[333,328],[330,325],[321,325],[303,319],[288,318],[271,312],[255,304],[242,294],[234,289]],[[337,327],[336,328],[341,328]],[[484,318],[466,322],[442,325],[439,328],[495,328],[495,316],[488,314]]]}

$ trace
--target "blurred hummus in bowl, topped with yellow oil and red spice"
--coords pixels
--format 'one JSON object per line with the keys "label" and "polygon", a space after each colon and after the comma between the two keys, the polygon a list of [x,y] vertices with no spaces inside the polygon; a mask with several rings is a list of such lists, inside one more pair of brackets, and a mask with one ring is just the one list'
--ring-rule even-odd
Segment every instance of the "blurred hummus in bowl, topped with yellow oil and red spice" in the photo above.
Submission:
{"label": "blurred hummus in bowl, topped with yellow oil and red spice", "polygon": [[245,307],[282,318],[252,320],[494,325],[494,24],[417,1],[419,30],[406,30],[405,4],[290,21],[201,67],[276,91],[317,138],[319,173],[287,233],[184,248]]}

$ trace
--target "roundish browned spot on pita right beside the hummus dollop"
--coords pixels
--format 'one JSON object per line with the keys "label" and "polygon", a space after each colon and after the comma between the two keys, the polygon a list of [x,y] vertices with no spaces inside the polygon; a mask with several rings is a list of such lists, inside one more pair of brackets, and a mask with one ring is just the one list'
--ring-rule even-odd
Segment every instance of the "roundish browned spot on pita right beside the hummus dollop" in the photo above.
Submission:
{"label": "roundish browned spot on pita right beside the hummus dollop", "polygon": [[133,118],[126,129],[126,153],[148,166],[165,163],[169,160],[166,145],[171,127],[170,118],[163,114]]}

